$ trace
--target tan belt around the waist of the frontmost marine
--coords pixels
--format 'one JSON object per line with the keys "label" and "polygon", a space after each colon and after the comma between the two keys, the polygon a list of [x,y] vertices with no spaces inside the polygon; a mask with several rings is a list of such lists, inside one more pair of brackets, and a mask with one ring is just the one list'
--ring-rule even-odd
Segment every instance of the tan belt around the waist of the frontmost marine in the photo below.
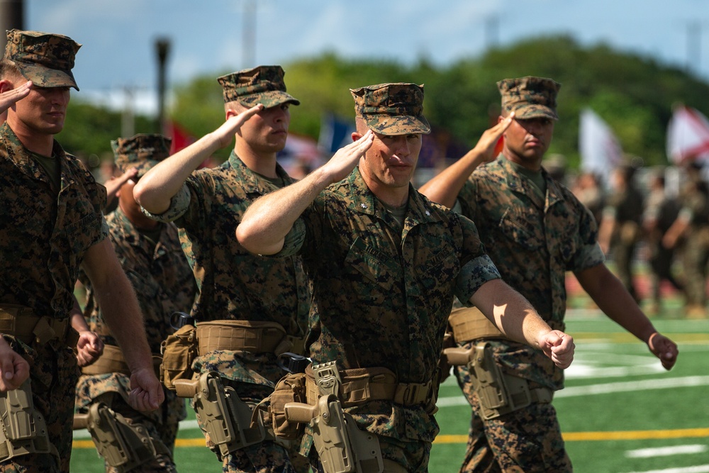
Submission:
{"label": "tan belt around the waist of the frontmost marine", "polygon": [[[398,383],[396,374],[384,367],[343,369],[340,371],[342,384],[338,398],[342,407],[361,404],[364,401],[393,401],[402,406],[429,404],[435,396],[433,380],[428,383]],[[313,368],[306,367],[306,398],[308,404],[315,405],[320,397]],[[435,402],[435,399],[433,399]]]}

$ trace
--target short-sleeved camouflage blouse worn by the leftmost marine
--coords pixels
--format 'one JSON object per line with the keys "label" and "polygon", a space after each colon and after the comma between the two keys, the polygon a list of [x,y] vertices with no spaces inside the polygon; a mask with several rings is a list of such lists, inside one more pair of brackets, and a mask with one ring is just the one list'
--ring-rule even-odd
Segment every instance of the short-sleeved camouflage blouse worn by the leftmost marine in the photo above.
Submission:
{"label": "short-sleeved camouflage blouse worn by the leftmost marine", "polygon": [[66,318],[86,250],[108,235],[106,189],[54,142],[57,194],[7,123],[0,127],[0,302]]}

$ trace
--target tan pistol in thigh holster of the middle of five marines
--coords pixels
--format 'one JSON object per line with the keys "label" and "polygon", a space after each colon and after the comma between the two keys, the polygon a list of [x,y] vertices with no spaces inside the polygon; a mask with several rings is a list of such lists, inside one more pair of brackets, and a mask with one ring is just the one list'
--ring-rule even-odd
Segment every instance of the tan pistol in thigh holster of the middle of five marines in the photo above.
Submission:
{"label": "tan pistol in thigh holster of the middle of five marines", "polygon": [[222,457],[266,438],[263,423],[252,424],[250,406],[239,399],[232,387],[224,387],[216,372],[203,373],[192,381],[176,381],[175,386],[178,396],[193,394],[196,415]]}

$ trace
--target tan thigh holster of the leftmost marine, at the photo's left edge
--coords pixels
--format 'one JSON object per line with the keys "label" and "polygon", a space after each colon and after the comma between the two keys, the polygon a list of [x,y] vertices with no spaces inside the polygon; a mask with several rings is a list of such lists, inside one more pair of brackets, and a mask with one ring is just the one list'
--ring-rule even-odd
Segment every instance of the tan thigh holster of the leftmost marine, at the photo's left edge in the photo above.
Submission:
{"label": "tan thigh holster of the leftmost marine, at the photo's left edge", "polygon": [[0,393],[0,421],[0,462],[52,452],[47,424],[34,408],[29,379],[17,389]]}

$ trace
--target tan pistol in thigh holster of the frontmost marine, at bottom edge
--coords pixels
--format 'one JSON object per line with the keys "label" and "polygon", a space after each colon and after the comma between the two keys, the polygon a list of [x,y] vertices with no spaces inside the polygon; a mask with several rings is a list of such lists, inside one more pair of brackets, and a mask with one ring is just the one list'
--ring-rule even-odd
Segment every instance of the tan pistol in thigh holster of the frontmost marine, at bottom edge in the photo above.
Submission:
{"label": "tan pistol in thigh holster of the frontmost marine, at bottom edge", "polygon": [[320,396],[316,406],[301,403],[285,405],[286,418],[309,422],[320,462],[325,473],[379,473],[384,470],[376,435],[357,428],[354,418],[342,411],[332,394]]}

